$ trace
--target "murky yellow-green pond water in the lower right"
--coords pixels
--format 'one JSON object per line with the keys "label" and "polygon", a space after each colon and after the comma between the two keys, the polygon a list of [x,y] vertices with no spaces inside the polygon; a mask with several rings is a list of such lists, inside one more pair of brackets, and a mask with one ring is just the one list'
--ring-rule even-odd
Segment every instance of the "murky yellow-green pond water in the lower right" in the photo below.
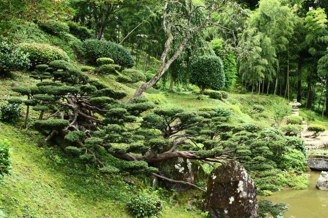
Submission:
{"label": "murky yellow-green pond water in the lower right", "polygon": [[311,171],[308,189],[286,189],[274,192],[269,197],[260,197],[273,203],[283,202],[289,205],[286,217],[295,218],[325,218],[328,217],[328,190],[316,188],[317,179],[321,171]]}

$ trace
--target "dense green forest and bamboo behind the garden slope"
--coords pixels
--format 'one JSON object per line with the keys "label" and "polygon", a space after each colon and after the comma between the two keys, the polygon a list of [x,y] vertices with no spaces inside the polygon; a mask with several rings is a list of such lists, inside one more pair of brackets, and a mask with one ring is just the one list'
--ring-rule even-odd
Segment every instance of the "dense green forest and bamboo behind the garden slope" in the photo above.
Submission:
{"label": "dense green forest and bamboo behind the garden slope", "polygon": [[[328,3],[262,0],[237,1],[239,5],[236,5],[224,2],[227,4],[224,10],[214,12],[211,17],[215,25],[208,25],[190,38],[156,85],[161,89],[188,90],[189,63],[195,56],[213,54],[214,50],[223,59],[226,74],[229,72],[232,78],[225,89],[231,89],[236,79],[235,89],[295,98],[313,111],[327,113],[325,8]],[[194,1],[194,4],[204,3]],[[130,48],[136,58],[135,67],[142,66],[144,73],[154,75],[157,69],[151,66],[151,59],[160,59],[167,40],[162,25],[164,5],[165,1],[147,0],[2,1],[0,33],[22,42],[24,33],[34,31],[32,24],[42,25],[48,19],[69,21],[70,32],[75,31],[80,39],[106,39]],[[179,23],[186,16],[176,11],[181,10],[179,7],[189,10],[178,3],[170,7],[174,39],[167,59],[181,45],[186,29],[186,24]],[[199,13],[192,20],[195,25],[208,11]],[[87,28],[84,30],[90,35],[82,36],[77,27]]]}

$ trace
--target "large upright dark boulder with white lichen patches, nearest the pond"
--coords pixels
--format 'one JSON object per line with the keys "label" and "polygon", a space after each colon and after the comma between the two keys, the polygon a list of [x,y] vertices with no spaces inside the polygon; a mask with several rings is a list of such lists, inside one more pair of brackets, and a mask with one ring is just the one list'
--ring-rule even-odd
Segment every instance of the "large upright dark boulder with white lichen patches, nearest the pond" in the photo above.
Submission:
{"label": "large upright dark boulder with white lichen patches, nearest the pond", "polygon": [[229,162],[211,172],[203,209],[215,218],[258,217],[255,184],[240,163]]}

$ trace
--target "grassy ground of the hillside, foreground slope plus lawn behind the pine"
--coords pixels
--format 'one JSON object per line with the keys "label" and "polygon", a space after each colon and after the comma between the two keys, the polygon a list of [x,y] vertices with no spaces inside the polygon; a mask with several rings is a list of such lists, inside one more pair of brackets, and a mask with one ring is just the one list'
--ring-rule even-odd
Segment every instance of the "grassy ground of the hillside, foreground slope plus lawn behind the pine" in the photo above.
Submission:
{"label": "grassy ground of the hillside, foreground slope plus lawn behind the pine", "polygon": [[[14,80],[0,80],[0,104],[16,95],[10,87],[13,81],[20,85],[36,82],[24,73],[15,75]],[[137,87],[137,84],[120,84],[106,76],[90,76],[130,96]],[[154,100],[158,107],[182,107],[187,110],[217,106],[231,108],[235,114],[233,123],[253,122],[263,127],[269,127],[273,122],[271,105],[274,102],[288,103],[280,97],[250,94],[230,94],[224,101],[206,96],[196,100],[197,96],[193,93],[168,93],[154,89],[145,95]],[[265,106],[263,117],[249,113],[253,104]],[[32,117],[37,117],[33,111]],[[21,125],[22,121],[17,124]],[[8,217],[23,214],[30,215],[24,217],[130,217],[126,202],[135,190],[120,178],[99,175],[93,167],[71,160],[58,148],[38,148],[37,140],[43,136],[31,130],[19,130],[0,123],[0,138],[8,138],[13,148],[12,176],[0,182],[0,210]],[[179,204],[177,198],[177,201],[165,205],[162,217],[200,217],[200,214],[187,212],[185,205]]]}

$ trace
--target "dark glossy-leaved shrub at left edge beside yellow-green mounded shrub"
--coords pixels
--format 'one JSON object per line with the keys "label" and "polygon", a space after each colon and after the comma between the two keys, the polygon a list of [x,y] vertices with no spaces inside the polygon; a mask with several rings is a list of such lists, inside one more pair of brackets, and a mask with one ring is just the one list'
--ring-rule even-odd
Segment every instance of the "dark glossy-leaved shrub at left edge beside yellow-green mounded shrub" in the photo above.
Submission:
{"label": "dark glossy-leaved shrub at left edge beside yellow-green mounded shrub", "polygon": [[0,76],[7,76],[9,71],[27,70],[30,67],[28,55],[15,49],[4,39],[0,40]]}

